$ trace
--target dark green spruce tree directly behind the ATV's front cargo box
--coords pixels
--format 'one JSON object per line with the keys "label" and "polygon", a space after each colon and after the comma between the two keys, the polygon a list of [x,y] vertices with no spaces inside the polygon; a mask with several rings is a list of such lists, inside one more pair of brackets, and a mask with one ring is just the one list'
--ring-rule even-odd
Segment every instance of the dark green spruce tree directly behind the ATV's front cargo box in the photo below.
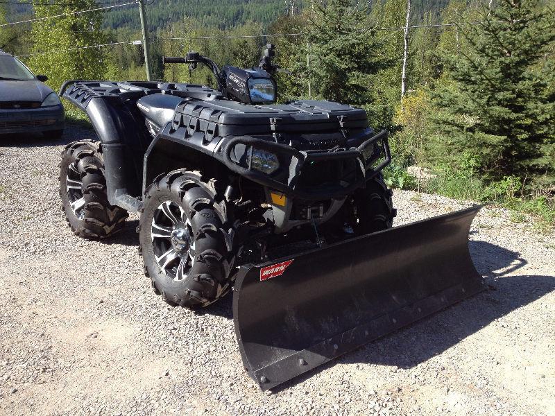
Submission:
{"label": "dark green spruce tree directly behind the ATV's front cargo box", "polygon": [[314,0],[311,6],[293,65],[305,94],[310,83],[314,98],[372,103],[373,76],[384,60],[375,32],[367,26],[366,10],[351,0]]}

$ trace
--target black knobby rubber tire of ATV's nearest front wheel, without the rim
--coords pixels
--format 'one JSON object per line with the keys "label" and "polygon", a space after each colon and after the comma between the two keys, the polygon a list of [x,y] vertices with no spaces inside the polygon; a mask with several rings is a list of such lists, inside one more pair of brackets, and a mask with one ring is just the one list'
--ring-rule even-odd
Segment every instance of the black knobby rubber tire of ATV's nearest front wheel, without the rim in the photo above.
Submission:
{"label": "black knobby rubber tire of ATV's nearest front wheel, without the rim", "polygon": [[[188,218],[194,242],[194,263],[182,279],[163,271],[157,263],[152,238],[155,211],[164,202],[178,205]],[[234,255],[228,207],[218,198],[215,181],[200,173],[178,170],[155,180],[145,191],[140,211],[139,239],[145,275],[155,293],[174,306],[199,308],[228,293]]]}

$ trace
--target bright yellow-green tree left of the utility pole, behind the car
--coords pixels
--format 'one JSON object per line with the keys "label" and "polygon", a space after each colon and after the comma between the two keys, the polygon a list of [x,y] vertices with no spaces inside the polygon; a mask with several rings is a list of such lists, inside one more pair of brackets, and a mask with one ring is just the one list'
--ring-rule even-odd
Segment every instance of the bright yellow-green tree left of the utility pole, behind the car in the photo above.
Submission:
{"label": "bright yellow-green tree left of the utility pole, behind the car", "polygon": [[[37,18],[96,7],[95,0],[65,0],[57,3],[35,0],[34,3]],[[28,60],[29,67],[35,73],[46,74],[49,85],[54,88],[69,79],[102,78],[105,73],[103,49],[77,49],[105,42],[101,24],[102,15],[99,11],[34,21],[31,53],[37,54]]]}

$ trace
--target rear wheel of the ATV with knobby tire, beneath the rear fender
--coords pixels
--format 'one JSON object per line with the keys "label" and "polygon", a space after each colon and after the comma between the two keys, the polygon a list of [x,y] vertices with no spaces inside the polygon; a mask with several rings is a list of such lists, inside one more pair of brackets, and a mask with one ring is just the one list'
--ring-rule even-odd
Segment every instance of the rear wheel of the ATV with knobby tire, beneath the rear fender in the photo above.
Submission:
{"label": "rear wheel of the ATV with knobby tire, beneath the rear fender", "polygon": [[128,216],[108,202],[98,142],[74,141],[62,151],[60,197],[69,226],[87,239],[112,236],[123,228]]}

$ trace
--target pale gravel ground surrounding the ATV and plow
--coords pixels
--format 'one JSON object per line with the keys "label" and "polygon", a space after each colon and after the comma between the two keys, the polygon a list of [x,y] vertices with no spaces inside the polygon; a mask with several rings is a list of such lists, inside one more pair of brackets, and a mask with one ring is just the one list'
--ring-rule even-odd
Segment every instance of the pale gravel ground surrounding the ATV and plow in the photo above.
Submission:
{"label": "pale gravel ground surrounding the ATV and plow", "polygon": [[[231,298],[171,308],[119,236],[71,234],[62,141],[0,138],[2,415],[555,415],[555,239],[486,208],[470,248],[488,291],[262,393],[241,365]],[[470,205],[395,192],[397,224]]]}

